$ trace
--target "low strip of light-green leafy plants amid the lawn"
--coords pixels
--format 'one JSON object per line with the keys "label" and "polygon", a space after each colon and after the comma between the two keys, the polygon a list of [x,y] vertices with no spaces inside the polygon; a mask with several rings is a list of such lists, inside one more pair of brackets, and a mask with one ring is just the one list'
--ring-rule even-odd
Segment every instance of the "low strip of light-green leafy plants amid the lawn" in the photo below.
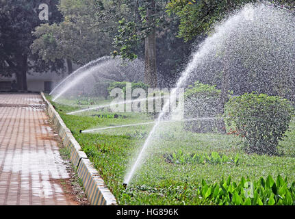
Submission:
{"label": "low strip of light-green leafy plants amid the lawn", "polygon": [[228,157],[227,155],[220,155],[217,152],[207,153],[188,153],[185,154],[181,149],[170,155],[165,155],[166,160],[172,164],[235,164],[238,165],[240,155],[235,157]]}

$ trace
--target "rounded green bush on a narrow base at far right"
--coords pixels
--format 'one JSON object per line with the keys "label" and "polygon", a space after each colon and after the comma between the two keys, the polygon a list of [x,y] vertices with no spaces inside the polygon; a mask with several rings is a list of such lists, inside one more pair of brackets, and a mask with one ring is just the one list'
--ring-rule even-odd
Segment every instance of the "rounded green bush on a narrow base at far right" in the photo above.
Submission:
{"label": "rounded green bush on a narrow base at far right", "polygon": [[225,105],[225,123],[230,133],[244,139],[247,153],[275,155],[292,112],[287,99],[253,92],[229,100]]}

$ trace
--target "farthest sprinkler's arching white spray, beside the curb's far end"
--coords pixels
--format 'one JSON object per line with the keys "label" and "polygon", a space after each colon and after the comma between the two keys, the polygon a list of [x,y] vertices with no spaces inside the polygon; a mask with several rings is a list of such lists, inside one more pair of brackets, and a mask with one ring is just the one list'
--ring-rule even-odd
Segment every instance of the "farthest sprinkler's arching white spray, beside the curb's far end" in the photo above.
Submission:
{"label": "farthest sprinkler's arching white spray, beside the curb's far end", "polygon": [[144,64],[140,60],[125,62],[120,57],[101,57],[78,68],[63,79],[50,93],[53,101],[64,94],[77,95],[79,92],[90,94],[96,83],[101,81],[140,81],[143,79]]}

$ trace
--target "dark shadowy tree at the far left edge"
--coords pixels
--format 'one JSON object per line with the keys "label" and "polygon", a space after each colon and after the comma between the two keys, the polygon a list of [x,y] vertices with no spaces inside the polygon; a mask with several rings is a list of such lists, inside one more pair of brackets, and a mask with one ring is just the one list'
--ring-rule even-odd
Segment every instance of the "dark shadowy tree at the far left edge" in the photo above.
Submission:
{"label": "dark shadowy tree at the far left edge", "polygon": [[[27,90],[27,71],[31,68],[29,60],[34,60],[29,46],[34,37],[31,31],[40,23],[57,21],[60,16],[55,7],[55,1],[0,1],[0,73],[11,76],[16,73],[19,90]],[[39,19],[40,3],[47,3],[51,8],[49,21]],[[44,62],[35,60],[34,64],[44,65]],[[60,62],[47,64],[60,68]]]}

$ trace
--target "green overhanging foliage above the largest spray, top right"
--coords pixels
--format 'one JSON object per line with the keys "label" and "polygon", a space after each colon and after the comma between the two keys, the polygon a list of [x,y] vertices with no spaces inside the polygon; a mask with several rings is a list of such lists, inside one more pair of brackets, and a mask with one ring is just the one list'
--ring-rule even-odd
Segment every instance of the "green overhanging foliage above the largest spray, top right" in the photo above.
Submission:
{"label": "green overhanging foliage above the largest spray, top right", "polygon": [[[257,1],[259,0],[172,0],[167,5],[167,12],[179,16],[181,22],[178,36],[188,41],[200,34],[208,34],[217,22],[222,21],[233,10]],[[269,1],[287,5],[290,10],[295,8],[293,0]]]}

